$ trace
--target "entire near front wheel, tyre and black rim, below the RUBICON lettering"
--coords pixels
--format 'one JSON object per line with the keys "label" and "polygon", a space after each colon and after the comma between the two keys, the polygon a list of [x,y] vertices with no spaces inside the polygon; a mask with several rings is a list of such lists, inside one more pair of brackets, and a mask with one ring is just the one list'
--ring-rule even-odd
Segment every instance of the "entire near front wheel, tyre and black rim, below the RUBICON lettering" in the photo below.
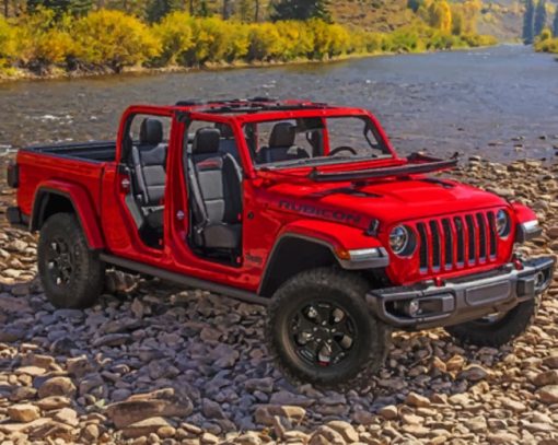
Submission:
{"label": "entire near front wheel, tyre and black rim, below the RUBICON lettering", "polygon": [[388,327],[367,307],[365,280],[335,269],[301,272],[272,297],[268,347],[291,380],[365,387],[384,363]]}

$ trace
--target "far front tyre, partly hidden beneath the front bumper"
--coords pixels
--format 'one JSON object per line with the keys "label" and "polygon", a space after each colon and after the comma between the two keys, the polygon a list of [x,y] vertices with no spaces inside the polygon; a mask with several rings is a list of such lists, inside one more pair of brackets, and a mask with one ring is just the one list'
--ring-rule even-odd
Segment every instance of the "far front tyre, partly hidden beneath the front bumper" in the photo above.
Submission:
{"label": "far front tyre, partly hidden beneath the front bumper", "polygon": [[521,336],[533,323],[540,296],[520,303],[493,323],[480,320],[447,326],[445,331],[463,344],[499,348]]}

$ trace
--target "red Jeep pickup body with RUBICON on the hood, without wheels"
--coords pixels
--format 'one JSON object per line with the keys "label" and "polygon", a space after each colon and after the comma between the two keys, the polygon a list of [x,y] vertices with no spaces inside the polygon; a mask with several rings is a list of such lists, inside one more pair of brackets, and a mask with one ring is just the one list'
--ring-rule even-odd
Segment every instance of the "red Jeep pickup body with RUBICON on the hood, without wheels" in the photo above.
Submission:
{"label": "red Jeep pickup body with RUBICON on the hood, without wheels", "polygon": [[[144,243],[127,204],[131,181],[125,163],[126,144],[131,143],[127,134],[130,121],[139,115],[171,122],[163,232],[155,245]],[[282,168],[253,162],[245,133],[251,124],[351,116],[371,122],[384,147],[382,156]],[[188,140],[193,121],[230,126],[237,149],[242,246],[229,262],[200,256],[186,242],[191,230],[191,204],[184,141]],[[324,134],[327,145],[327,132]],[[9,216],[12,223],[36,231],[50,215],[73,212],[90,248],[100,251],[107,264],[257,303],[267,303],[290,277],[328,261],[345,270],[381,276],[377,282],[392,296],[402,289],[422,295],[426,289],[443,289],[452,280],[463,283],[467,277],[476,283],[490,273],[507,277],[503,282],[509,282],[511,273],[515,283],[515,274],[521,274],[524,266],[514,262],[513,245],[539,234],[536,215],[492,194],[428,176],[455,164],[454,160],[422,155],[398,156],[375,117],[358,108],[264,99],[131,106],[123,115],[115,143],[20,150],[9,172],[10,184],[18,187],[18,207],[10,209]],[[497,233],[496,218],[501,216],[501,210],[509,219],[505,236]],[[390,248],[393,231],[400,225],[407,227],[416,244],[409,255],[395,255]],[[362,251],[373,253],[374,258],[359,261],[357,256]],[[553,265],[546,259],[527,266],[530,271],[533,268],[532,274],[543,273],[537,276],[537,291],[546,289],[551,280]],[[498,286],[495,284],[492,291],[501,294]],[[381,292],[369,295],[368,301],[380,318],[399,328],[454,324],[495,309],[509,309],[519,302],[509,298],[515,291],[507,291],[503,298],[497,295],[501,300],[495,301],[487,296],[490,284],[485,291],[478,297],[486,304],[470,305],[463,312],[465,317],[455,305],[451,314],[441,317],[414,319],[390,313],[382,298],[387,302],[405,296]]]}

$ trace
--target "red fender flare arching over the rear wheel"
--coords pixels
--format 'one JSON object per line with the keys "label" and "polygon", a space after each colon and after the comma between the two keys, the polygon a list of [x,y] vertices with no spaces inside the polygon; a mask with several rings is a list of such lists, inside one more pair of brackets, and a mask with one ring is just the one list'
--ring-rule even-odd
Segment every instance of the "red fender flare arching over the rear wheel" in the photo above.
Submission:
{"label": "red fender flare arching over the rear wheel", "polygon": [[37,231],[44,223],[45,214],[50,197],[63,197],[70,201],[81,229],[88,239],[91,249],[103,249],[105,242],[101,233],[95,208],[90,194],[81,186],[61,180],[48,180],[40,183],[33,198],[33,211],[30,221],[31,231]]}

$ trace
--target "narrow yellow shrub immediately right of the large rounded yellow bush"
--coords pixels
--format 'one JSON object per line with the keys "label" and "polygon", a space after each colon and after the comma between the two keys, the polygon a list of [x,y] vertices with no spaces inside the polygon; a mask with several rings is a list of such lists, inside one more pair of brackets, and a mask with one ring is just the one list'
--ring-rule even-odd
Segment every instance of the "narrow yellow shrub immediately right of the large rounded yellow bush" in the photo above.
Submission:
{"label": "narrow yellow shrub immediately right of the large rounded yellow bush", "polygon": [[158,65],[184,65],[184,57],[194,46],[191,19],[184,12],[173,12],[153,27],[153,34],[161,42]]}

